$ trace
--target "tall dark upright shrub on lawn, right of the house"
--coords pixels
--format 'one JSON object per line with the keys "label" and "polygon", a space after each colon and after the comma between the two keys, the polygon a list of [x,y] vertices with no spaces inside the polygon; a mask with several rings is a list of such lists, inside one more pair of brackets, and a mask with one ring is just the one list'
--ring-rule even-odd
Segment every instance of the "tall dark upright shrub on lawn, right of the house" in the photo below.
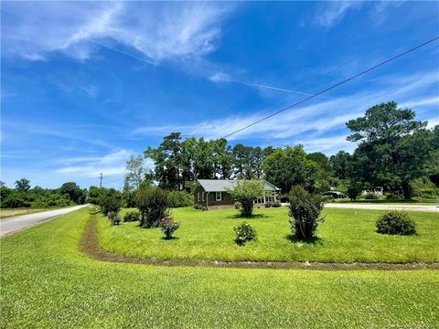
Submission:
{"label": "tall dark upright shrub on lawn, right of the house", "polygon": [[320,213],[325,205],[323,196],[308,193],[303,186],[294,186],[289,194],[291,231],[298,239],[312,239],[317,225],[323,221]]}

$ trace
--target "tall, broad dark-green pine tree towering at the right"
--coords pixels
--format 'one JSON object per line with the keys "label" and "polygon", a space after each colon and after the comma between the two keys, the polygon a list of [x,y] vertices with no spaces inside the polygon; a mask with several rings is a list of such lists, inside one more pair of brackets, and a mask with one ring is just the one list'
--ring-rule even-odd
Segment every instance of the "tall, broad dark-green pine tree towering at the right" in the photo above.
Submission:
{"label": "tall, broad dark-green pine tree towering at the right", "polygon": [[433,152],[434,134],[427,122],[414,120],[410,109],[390,101],[375,105],[363,117],[347,122],[348,141],[360,142],[354,153],[355,175],[375,186],[400,186],[404,199],[411,198],[410,182],[425,175]]}

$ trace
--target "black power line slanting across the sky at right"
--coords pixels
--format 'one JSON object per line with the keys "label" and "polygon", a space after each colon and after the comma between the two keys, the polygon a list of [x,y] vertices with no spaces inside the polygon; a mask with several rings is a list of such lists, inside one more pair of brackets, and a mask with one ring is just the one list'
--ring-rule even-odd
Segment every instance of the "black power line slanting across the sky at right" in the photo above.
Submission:
{"label": "black power line slanting across the sky at right", "polygon": [[303,99],[303,100],[301,100],[301,101],[297,101],[297,102],[295,102],[294,104],[291,104],[291,105],[285,107],[285,108],[282,109],[282,110],[275,111],[275,112],[273,112],[272,114],[267,115],[266,117],[263,117],[262,119],[257,120],[257,121],[255,121],[255,122],[252,122],[252,123],[250,123],[250,124],[248,124],[248,125],[246,125],[246,126],[240,128],[240,129],[238,129],[237,131],[234,131],[233,133],[229,133],[229,134],[227,134],[227,135],[225,135],[225,136],[223,136],[223,137],[221,137],[221,138],[226,139],[226,138],[230,137],[231,135],[234,135],[235,133],[240,133],[240,132],[242,132],[243,130],[252,127],[253,125],[258,124],[259,122],[262,122],[262,121],[265,121],[265,120],[267,120],[267,119],[270,119],[270,118],[272,118],[274,115],[277,115],[277,114],[279,114],[279,113],[282,113],[283,111],[289,110],[289,109],[291,109],[292,107],[294,107],[294,106],[296,106],[296,105],[299,105],[299,104],[301,104],[301,103],[303,103],[303,102],[305,102],[305,101],[309,101],[309,100],[311,100],[311,99],[313,99],[313,98],[316,98],[318,95],[321,95],[321,94],[327,92],[328,90],[333,90],[334,88],[337,88],[338,86],[341,86],[342,84],[345,84],[345,83],[347,83],[347,82],[350,81],[350,80],[354,80],[354,79],[358,78],[359,76],[362,76],[363,74],[366,74],[366,73],[368,73],[369,71],[371,71],[371,70],[373,70],[373,69],[378,69],[378,68],[380,68],[380,67],[383,66],[384,64],[387,64],[387,63],[391,62],[392,60],[394,60],[394,59],[396,59],[396,58],[401,58],[402,56],[407,55],[408,53],[411,53],[412,51],[414,51],[414,50],[416,50],[416,49],[422,48],[422,47],[424,47],[424,46],[426,46],[426,45],[428,45],[428,44],[434,42],[434,41],[437,40],[438,38],[439,38],[439,37],[434,37],[433,39],[430,39],[430,40],[428,40],[428,41],[425,41],[425,42],[423,42],[421,45],[418,45],[418,46],[416,46],[416,47],[414,47],[414,48],[411,48],[411,49],[409,49],[409,50],[406,50],[406,51],[402,52],[401,54],[398,54],[398,55],[396,55],[396,56],[394,56],[394,57],[392,57],[392,58],[386,59],[386,60],[380,62],[379,64],[377,64],[377,65],[375,65],[375,66],[373,66],[373,67],[371,67],[371,68],[369,68],[369,69],[365,69],[365,70],[363,70],[363,71],[357,73],[356,75],[354,75],[354,76],[352,76],[352,77],[350,77],[350,78],[348,78],[348,79],[346,79],[346,80],[340,81],[340,82],[338,82],[338,83],[336,83],[336,84],[334,84],[334,85],[328,87],[327,89],[320,90],[320,91],[316,92],[315,94],[313,94],[313,95],[311,95],[311,96],[309,96],[309,97],[306,97],[305,99]]}

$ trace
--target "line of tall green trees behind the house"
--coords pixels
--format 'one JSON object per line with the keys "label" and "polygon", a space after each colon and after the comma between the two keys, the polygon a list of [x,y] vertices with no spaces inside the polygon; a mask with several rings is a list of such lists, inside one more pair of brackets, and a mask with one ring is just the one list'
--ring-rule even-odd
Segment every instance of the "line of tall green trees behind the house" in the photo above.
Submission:
{"label": "line of tall green trees behind the house", "polygon": [[[331,187],[355,198],[361,190],[382,186],[391,196],[413,196],[413,186],[439,185],[439,126],[427,128],[411,109],[394,101],[369,108],[346,123],[348,141],[358,143],[353,154],[306,154],[302,145],[265,148],[225,139],[183,139],[170,133],[156,148],[127,162],[125,193],[152,182],[167,190],[190,191],[197,179],[266,179],[286,195],[292,186],[312,193]],[[154,169],[146,170],[150,159]]]}

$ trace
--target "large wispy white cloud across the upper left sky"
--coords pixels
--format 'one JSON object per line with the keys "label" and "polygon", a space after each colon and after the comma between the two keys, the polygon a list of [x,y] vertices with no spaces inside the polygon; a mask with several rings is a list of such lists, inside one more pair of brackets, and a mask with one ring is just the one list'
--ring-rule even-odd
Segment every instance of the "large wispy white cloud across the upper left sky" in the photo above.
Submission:
{"label": "large wispy white cloud across the upper left sky", "polygon": [[219,23],[232,6],[26,2],[5,3],[3,7],[7,16],[2,15],[2,38],[9,54],[42,60],[50,52],[61,51],[87,59],[103,46],[156,62],[198,57],[212,51],[220,35]]}

